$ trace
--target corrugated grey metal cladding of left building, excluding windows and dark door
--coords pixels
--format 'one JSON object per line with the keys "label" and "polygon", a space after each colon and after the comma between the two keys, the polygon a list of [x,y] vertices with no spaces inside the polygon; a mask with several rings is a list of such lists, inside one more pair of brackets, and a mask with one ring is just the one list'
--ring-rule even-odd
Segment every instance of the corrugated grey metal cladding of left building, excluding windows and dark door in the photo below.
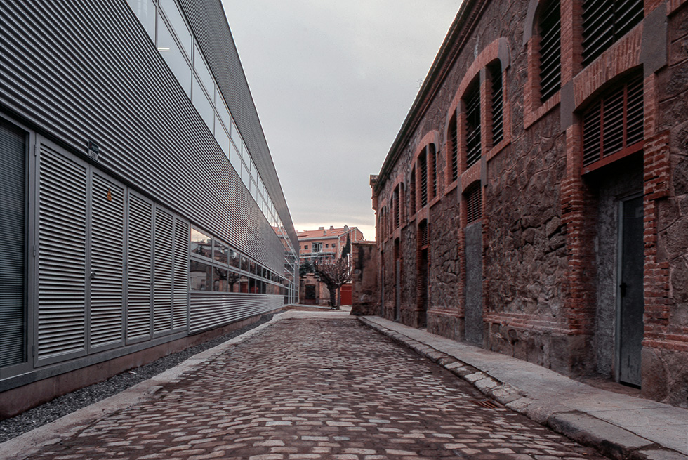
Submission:
{"label": "corrugated grey metal cladding of left building, excluding windows and dark door", "polygon": [[[222,6],[180,5],[298,248]],[[28,352],[15,350],[25,358],[8,360],[0,390],[283,305],[190,291],[192,225],[282,276],[284,244],[125,0],[4,1],[0,62],[0,115],[28,141],[31,210]]]}

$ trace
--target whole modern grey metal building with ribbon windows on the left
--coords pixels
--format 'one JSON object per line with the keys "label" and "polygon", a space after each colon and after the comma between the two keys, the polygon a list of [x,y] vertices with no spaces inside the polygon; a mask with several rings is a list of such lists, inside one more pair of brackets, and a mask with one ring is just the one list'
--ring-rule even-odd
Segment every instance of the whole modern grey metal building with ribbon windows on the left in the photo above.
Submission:
{"label": "whole modern grey metal building with ribbon windows on the left", "polygon": [[220,0],[0,7],[0,415],[298,299]]}

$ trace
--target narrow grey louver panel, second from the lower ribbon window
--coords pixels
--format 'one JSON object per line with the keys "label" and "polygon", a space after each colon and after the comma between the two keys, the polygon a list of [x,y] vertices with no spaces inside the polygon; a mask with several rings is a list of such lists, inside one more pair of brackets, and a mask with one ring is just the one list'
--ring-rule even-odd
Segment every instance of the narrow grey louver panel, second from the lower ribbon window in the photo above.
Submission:
{"label": "narrow grey louver panel, second from the lower ribbon window", "polygon": [[153,243],[153,334],[172,329],[172,216],[155,208]]}

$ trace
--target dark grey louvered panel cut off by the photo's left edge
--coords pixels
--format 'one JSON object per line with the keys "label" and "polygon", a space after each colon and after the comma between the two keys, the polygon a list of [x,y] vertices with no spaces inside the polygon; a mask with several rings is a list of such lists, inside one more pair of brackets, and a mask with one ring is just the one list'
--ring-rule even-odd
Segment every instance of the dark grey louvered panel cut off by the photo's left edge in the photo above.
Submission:
{"label": "dark grey louvered panel cut off by the photo's left edge", "polygon": [[26,361],[25,138],[0,124],[0,367]]}

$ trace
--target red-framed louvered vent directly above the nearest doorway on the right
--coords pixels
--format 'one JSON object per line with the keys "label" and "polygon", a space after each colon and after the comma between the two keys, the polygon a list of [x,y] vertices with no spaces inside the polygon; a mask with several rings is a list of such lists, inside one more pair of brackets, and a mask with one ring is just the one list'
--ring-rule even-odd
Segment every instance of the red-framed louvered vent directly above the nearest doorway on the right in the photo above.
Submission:
{"label": "red-framed louvered vent directly above the nearest doorway on the right", "polygon": [[640,150],[643,119],[642,75],[637,75],[583,112],[583,166],[624,150]]}

